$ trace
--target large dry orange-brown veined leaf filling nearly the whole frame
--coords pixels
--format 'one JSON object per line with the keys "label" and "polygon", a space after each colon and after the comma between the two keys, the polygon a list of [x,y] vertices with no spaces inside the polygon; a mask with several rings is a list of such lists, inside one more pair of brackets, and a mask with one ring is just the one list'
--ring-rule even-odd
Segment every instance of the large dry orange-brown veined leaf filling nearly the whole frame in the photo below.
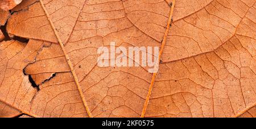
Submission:
{"label": "large dry orange-brown veined leaf filling nearly the whole frame", "polygon": [[[255,0],[28,0],[12,12],[0,101],[13,109],[2,116],[256,115]],[[159,72],[97,66],[111,41],[160,47]]]}

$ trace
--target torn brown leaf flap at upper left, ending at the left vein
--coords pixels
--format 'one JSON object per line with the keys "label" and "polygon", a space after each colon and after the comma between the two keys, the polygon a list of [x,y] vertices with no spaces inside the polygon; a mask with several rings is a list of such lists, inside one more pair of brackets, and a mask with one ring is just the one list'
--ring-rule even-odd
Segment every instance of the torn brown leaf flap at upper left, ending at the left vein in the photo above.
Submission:
{"label": "torn brown leaf flap at upper left, ending at the left vein", "polygon": [[39,2],[34,3],[27,10],[14,12],[7,24],[7,32],[23,38],[57,43],[55,34]]}

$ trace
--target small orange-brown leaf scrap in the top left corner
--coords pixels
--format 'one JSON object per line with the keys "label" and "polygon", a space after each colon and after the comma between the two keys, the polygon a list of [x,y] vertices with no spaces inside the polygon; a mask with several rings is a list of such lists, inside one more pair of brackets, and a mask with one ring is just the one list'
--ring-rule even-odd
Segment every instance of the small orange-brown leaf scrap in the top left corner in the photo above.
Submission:
{"label": "small orange-brown leaf scrap in the top left corner", "polygon": [[22,2],[22,0],[1,0],[0,1],[0,9],[2,10],[11,10],[16,5],[19,5],[19,3]]}

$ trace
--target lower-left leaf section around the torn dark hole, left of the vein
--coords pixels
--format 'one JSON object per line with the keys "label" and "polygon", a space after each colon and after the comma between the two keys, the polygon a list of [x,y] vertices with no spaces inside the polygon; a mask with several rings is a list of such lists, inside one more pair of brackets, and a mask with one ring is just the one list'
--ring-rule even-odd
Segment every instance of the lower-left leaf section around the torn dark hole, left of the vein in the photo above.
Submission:
{"label": "lower-left leaf section around the torn dark hole, left of the vein", "polygon": [[[40,52],[51,47],[55,47],[55,44],[49,45],[38,40],[30,40],[28,44],[19,41],[1,43],[1,100],[31,116],[85,116],[79,93],[69,72],[58,73],[51,82],[40,85],[39,89],[32,87],[29,77],[25,75],[26,70],[23,73],[28,64],[41,60],[38,59]],[[55,55],[49,55],[49,59],[54,58],[52,56]],[[61,64],[65,63],[66,61]]]}

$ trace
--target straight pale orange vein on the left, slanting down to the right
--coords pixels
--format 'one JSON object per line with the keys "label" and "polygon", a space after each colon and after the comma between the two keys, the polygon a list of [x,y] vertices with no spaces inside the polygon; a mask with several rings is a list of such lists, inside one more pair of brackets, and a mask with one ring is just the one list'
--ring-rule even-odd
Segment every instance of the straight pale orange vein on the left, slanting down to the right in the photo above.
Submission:
{"label": "straight pale orange vein on the left, slanting down to the right", "polygon": [[67,55],[67,52],[66,52],[65,49],[64,49],[63,41],[60,39],[60,36],[59,36],[59,34],[57,33],[56,28],[55,28],[55,26],[54,26],[52,20],[49,18],[49,13],[48,13],[48,11],[46,10],[46,7],[44,6],[43,1],[40,0],[40,3],[41,3],[41,6],[43,7],[44,12],[45,12],[46,15],[47,15],[47,19],[49,20],[49,23],[51,24],[52,30],[54,31],[54,33],[55,33],[55,35],[56,35],[56,38],[57,38],[57,40],[59,41],[60,47],[61,47],[61,49],[62,49],[62,51],[63,51],[63,53],[64,53],[64,55],[65,55],[65,58],[66,58],[66,60],[67,60],[67,62],[68,62],[69,68],[70,68],[71,73],[72,73],[72,75],[73,75],[73,77],[74,77],[74,79],[75,79],[76,86],[77,86],[77,89],[79,90],[79,94],[80,94],[80,97],[81,97],[81,99],[82,99],[82,103],[84,104],[85,110],[86,110],[86,112],[88,113],[88,116],[89,116],[90,118],[92,118],[92,114],[90,113],[89,106],[88,106],[88,104],[87,104],[87,102],[86,102],[86,100],[85,100],[84,93],[82,92],[81,86],[80,86],[80,84],[79,84],[79,80],[78,80],[77,75],[76,75],[76,73],[75,73],[75,69],[73,68],[72,62],[71,62],[71,60],[69,59],[69,56]]}

